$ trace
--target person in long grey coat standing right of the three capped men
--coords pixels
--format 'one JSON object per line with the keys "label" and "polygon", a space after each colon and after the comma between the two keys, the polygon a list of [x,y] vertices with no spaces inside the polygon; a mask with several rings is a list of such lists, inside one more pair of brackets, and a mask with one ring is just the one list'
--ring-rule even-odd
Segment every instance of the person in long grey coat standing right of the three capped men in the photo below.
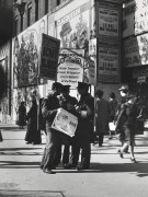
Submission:
{"label": "person in long grey coat standing right of the three capped men", "polygon": [[102,147],[104,135],[109,134],[109,120],[110,120],[110,104],[103,99],[104,92],[98,90],[95,92],[95,126],[96,126],[96,136],[99,137],[99,147]]}

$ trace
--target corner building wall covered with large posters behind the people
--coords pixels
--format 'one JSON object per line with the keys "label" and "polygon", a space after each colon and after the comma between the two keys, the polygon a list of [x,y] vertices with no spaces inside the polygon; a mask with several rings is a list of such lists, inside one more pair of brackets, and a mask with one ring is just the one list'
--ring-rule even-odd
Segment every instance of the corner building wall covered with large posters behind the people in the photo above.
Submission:
{"label": "corner building wall covered with large posters behind the people", "polygon": [[53,80],[41,79],[38,74],[43,66],[43,34],[60,40],[59,60],[64,55],[67,59],[58,66],[55,80],[70,84],[73,95],[79,80],[92,84],[92,94],[96,89],[102,89],[106,99],[111,91],[118,93],[122,1],[14,0],[13,13],[10,54],[5,53],[5,57],[10,57],[8,67],[12,90],[9,96],[12,106],[10,119],[18,119],[21,101],[25,101],[30,108],[33,90],[41,97],[50,90]]}

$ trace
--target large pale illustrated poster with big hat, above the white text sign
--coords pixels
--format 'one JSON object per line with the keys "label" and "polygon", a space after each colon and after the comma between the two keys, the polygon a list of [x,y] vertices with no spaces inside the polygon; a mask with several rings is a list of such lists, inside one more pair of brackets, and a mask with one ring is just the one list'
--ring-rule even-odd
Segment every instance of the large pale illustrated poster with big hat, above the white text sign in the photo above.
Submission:
{"label": "large pale illustrated poster with big hat, above the white text sign", "polygon": [[57,38],[61,48],[89,50],[90,2],[72,10],[56,22]]}

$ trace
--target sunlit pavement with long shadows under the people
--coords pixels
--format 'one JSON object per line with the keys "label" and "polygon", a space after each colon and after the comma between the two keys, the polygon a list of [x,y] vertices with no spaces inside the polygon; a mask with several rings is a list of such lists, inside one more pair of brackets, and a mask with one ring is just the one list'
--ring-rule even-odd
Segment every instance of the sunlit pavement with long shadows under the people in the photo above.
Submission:
{"label": "sunlit pavement with long shadows under the people", "polygon": [[92,146],[91,167],[86,171],[64,170],[45,174],[39,162],[45,147],[25,144],[26,129],[0,124],[0,197],[147,197],[148,196],[148,138],[136,136],[135,157],[121,159],[121,146],[115,138],[105,137],[104,146]]}

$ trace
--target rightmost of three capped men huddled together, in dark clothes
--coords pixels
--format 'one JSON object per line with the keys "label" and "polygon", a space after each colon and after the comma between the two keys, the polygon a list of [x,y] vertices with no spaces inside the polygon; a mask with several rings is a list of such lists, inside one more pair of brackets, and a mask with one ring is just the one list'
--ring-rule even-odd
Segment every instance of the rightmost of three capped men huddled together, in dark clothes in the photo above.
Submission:
{"label": "rightmost of three capped men huddled together, in dark clothes", "polygon": [[94,99],[91,96],[89,91],[89,84],[78,82],[78,94],[80,100],[76,107],[78,116],[78,127],[75,135],[75,143],[72,147],[72,159],[69,167],[77,167],[79,161],[80,149],[81,165],[78,170],[86,170],[90,167],[90,155],[91,155],[91,136],[93,132],[93,116],[94,116]]}

